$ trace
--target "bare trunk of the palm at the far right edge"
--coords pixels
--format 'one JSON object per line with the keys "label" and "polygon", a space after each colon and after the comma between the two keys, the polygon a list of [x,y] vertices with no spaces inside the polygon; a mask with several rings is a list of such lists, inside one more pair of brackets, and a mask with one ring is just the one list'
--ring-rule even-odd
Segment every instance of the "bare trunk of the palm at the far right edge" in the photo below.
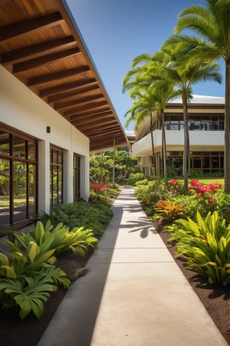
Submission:
{"label": "bare trunk of the palm at the far right edge", "polygon": [[227,194],[230,193],[230,140],[229,140],[229,131],[230,131],[230,64],[226,63],[225,66],[225,121],[224,121],[224,192]]}

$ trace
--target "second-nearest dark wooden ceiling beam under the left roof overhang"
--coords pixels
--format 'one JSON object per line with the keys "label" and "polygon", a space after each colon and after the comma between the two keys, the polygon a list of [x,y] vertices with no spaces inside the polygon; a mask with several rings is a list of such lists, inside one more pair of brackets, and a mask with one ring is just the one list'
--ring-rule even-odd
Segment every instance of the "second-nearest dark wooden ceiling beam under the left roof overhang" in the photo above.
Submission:
{"label": "second-nearest dark wooden ceiling beam under the left roof overhang", "polygon": [[48,53],[54,53],[59,49],[68,48],[76,44],[73,36],[61,37],[60,39],[52,39],[51,41],[42,42],[40,44],[32,44],[23,48],[15,49],[1,53],[1,64],[3,66],[15,64],[16,62],[24,62],[35,57],[40,57]]}

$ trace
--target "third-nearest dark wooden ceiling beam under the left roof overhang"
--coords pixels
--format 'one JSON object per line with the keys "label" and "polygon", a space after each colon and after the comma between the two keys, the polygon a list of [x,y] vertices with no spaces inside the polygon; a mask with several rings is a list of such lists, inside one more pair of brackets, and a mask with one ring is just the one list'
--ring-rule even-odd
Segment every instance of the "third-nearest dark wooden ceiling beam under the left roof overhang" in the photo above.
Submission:
{"label": "third-nearest dark wooden ceiling beam under the left roof overhang", "polygon": [[82,53],[79,48],[70,48],[66,49],[66,51],[56,52],[52,54],[43,55],[42,57],[35,57],[35,59],[27,60],[26,62],[19,62],[17,64],[13,64],[12,73],[20,73],[32,69],[36,69],[40,66],[46,66],[51,62],[57,62],[61,59],[66,59],[66,57],[73,57],[73,55],[77,55]]}

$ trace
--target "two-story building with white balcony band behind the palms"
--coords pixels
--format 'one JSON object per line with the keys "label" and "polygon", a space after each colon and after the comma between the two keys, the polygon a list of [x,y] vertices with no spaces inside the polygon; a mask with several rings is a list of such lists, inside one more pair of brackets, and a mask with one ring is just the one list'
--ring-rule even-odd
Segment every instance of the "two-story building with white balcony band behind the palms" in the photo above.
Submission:
{"label": "two-story building with white balcony band behind the palms", "polygon": [[[191,170],[224,173],[224,98],[193,95],[188,106]],[[164,113],[166,132],[166,164],[174,165],[182,174],[184,120],[182,100],[173,100]],[[160,114],[153,113],[153,141],[157,174],[162,172],[162,125]],[[136,132],[133,156],[141,156],[140,167],[151,172],[150,117],[146,117]]]}

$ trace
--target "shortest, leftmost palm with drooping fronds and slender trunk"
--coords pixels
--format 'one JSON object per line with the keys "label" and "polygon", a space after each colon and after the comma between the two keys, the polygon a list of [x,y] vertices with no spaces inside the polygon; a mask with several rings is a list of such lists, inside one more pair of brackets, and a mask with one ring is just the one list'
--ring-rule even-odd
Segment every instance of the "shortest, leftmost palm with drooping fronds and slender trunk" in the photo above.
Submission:
{"label": "shortest, leftmost palm with drooping fronds and slender trunk", "polygon": [[[140,89],[138,91],[138,89]],[[128,127],[131,121],[135,120],[135,130],[138,129],[140,123],[146,118],[150,117],[150,131],[151,131],[151,145],[152,145],[152,168],[153,174],[155,170],[155,151],[154,151],[154,141],[153,141],[153,111],[157,110],[157,105],[155,98],[151,93],[146,92],[144,89],[137,88],[131,93],[131,97],[135,100],[133,102],[133,107],[129,109],[125,117],[130,113],[128,120],[126,121],[125,126]],[[155,175],[155,174],[154,174]]]}

